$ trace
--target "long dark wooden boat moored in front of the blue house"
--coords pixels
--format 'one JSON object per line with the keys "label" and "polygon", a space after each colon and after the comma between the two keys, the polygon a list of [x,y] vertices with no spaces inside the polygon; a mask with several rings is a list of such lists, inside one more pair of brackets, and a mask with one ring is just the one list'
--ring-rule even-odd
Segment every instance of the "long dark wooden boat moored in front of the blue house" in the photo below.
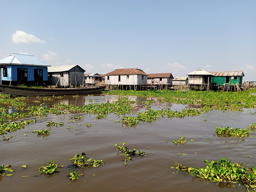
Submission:
{"label": "long dark wooden boat moored in front of the blue house", "polygon": [[79,87],[79,88],[29,88],[29,87],[16,87],[9,85],[1,85],[0,91],[12,95],[19,96],[52,96],[52,95],[84,95],[84,94],[97,94],[104,91],[106,86],[96,86],[92,88]]}

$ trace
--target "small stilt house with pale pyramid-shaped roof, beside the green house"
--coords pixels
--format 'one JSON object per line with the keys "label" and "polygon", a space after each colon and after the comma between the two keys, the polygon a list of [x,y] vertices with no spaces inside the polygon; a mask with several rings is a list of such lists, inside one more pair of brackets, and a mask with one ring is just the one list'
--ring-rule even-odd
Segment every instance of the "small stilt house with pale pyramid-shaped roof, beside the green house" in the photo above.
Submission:
{"label": "small stilt house with pale pyramid-shaped roof, beside the green house", "polygon": [[211,77],[214,76],[211,73],[197,69],[191,73],[188,73],[188,85],[190,90],[210,90]]}

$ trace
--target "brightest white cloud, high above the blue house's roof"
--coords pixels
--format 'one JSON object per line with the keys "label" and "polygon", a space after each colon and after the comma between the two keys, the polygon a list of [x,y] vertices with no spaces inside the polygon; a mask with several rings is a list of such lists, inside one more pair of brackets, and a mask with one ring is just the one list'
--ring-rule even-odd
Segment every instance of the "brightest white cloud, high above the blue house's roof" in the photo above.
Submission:
{"label": "brightest white cloud, high above the blue house's roof", "polygon": [[44,40],[39,39],[38,37],[27,34],[24,31],[17,31],[12,34],[13,43],[46,43]]}

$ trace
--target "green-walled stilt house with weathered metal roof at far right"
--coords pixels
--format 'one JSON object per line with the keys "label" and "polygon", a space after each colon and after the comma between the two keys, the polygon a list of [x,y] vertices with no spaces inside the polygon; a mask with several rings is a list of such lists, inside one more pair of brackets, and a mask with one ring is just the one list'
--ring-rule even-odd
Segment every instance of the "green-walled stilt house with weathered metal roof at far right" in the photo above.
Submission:
{"label": "green-walled stilt house with weathered metal roof at far right", "polygon": [[221,72],[209,72],[212,75],[213,85],[242,85],[244,77],[243,71],[221,71]]}

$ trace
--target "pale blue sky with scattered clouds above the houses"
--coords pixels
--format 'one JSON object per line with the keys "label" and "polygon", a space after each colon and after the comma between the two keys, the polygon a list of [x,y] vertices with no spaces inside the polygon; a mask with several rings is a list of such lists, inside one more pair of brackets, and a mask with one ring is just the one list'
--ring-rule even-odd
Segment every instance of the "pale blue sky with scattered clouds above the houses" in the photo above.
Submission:
{"label": "pale blue sky with scattered clouds above the houses", "polygon": [[2,0],[0,58],[34,55],[85,73],[116,68],[256,80],[256,0]]}

